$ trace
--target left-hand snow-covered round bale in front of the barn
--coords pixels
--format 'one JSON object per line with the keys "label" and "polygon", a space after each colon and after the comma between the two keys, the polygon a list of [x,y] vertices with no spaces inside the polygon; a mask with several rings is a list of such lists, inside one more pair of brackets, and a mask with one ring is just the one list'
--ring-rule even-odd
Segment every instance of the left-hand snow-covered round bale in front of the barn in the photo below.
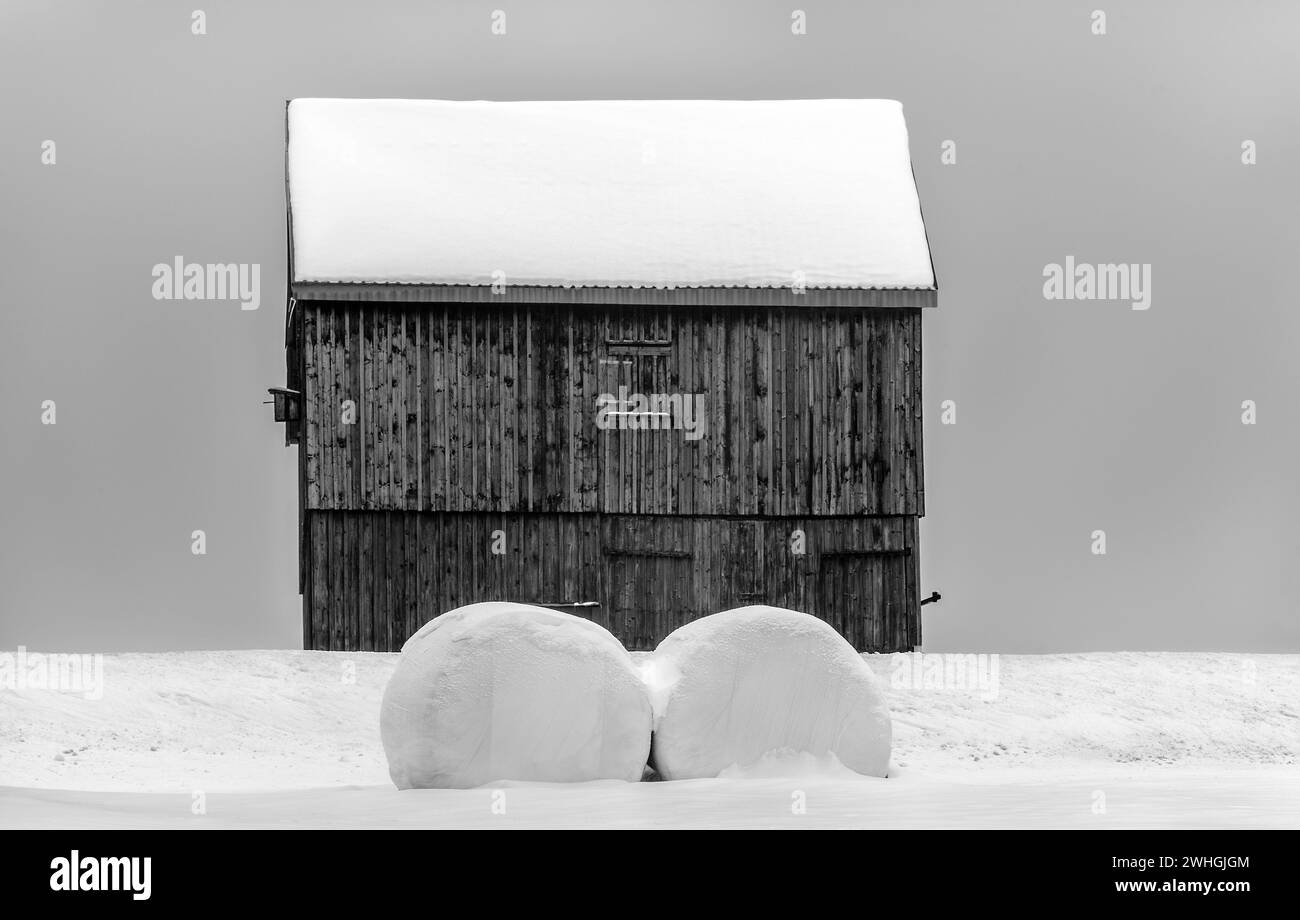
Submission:
{"label": "left-hand snow-covered round bale in front of the barn", "polygon": [[469,604],[407,639],[380,734],[399,789],[641,778],[651,708],[608,630],[515,603]]}

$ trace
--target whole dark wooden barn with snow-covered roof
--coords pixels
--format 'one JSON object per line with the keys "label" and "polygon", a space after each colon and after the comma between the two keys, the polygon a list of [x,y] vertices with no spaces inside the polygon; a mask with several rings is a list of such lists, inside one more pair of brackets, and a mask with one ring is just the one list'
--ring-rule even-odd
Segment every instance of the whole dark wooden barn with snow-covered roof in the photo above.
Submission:
{"label": "whole dark wooden barn with snow-covered roof", "polygon": [[897,103],[302,99],[286,161],[306,647],[480,600],[629,648],[751,603],[919,645]]}

